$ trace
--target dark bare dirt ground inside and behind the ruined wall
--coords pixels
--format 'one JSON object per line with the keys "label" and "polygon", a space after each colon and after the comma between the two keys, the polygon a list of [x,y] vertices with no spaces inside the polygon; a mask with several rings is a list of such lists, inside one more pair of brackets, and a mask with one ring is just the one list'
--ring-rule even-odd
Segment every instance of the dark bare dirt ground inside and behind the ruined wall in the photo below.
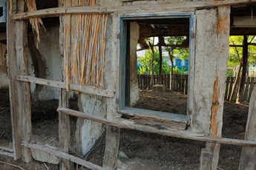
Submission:
{"label": "dark bare dirt ground inside and behind the ruined wall", "polygon": [[[0,90],[0,146],[11,142],[10,104],[7,90]],[[179,92],[140,92],[140,101],[135,107],[153,109],[162,112],[186,114],[187,96]],[[44,101],[32,104],[33,136],[40,134],[41,140],[58,143],[58,114],[56,108],[58,101]],[[77,109],[74,103],[73,108]],[[223,137],[242,139],[246,127],[248,106],[225,102],[223,112]],[[76,120],[71,118],[71,123]],[[73,125],[75,126],[75,125]],[[47,130],[48,128],[48,130]],[[49,130],[51,129],[51,130]],[[43,135],[42,135],[43,134]],[[36,139],[38,140],[38,139]],[[102,165],[104,154],[105,136],[96,143],[96,148],[88,155],[88,161]],[[6,144],[4,144],[6,145]],[[10,145],[11,146],[11,145]],[[198,169],[200,151],[205,143],[193,140],[183,140],[174,137],[148,134],[131,130],[121,130],[119,151],[125,153],[128,159],[119,159],[119,167],[125,169]],[[240,146],[222,145],[218,169],[237,169],[240,160]],[[120,153],[121,155],[122,153]],[[22,160],[14,161],[11,157],[0,154],[0,169],[17,169],[6,163],[21,166],[23,169],[58,169],[58,166],[48,163],[33,161],[23,163]]]}

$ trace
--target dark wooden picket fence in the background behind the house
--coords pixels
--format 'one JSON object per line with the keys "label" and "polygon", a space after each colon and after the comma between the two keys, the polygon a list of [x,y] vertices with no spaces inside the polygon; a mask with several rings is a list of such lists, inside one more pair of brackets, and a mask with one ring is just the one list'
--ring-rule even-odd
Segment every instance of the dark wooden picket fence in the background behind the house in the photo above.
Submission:
{"label": "dark wooden picket fence in the background behind the house", "polygon": [[[154,84],[157,84],[159,76],[154,75]],[[152,89],[151,87],[151,75],[138,75],[138,81],[139,81],[139,87],[140,89]],[[225,100],[228,101],[230,98],[230,95],[232,93],[232,88],[234,86],[235,77],[228,77],[226,79],[226,85],[225,85]],[[162,75],[162,82],[161,84],[164,84],[167,86],[168,89],[170,89],[170,75]],[[184,95],[188,94],[188,75],[174,75],[171,80],[172,88],[171,90],[174,92],[183,92]],[[245,88],[243,90],[242,96],[243,101],[249,102],[252,90],[255,85],[255,78],[246,78],[246,84]],[[235,93],[234,98],[237,98],[237,92]]]}

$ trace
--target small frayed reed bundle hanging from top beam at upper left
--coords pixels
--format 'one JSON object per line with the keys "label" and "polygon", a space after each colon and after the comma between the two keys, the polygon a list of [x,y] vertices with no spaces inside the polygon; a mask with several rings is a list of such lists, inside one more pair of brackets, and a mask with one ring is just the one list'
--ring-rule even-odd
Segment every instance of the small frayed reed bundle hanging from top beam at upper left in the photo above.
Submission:
{"label": "small frayed reed bundle hanging from top beam at upper left", "polygon": [[[36,0],[25,0],[27,4],[27,10],[29,12],[35,11],[36,10]],[[42,19],[39,17],[36,18],[29,18],[30,25],[32,27],[33,33],[36,32],[37,35],[37,41],[40,42],[40,35],[39,35],[39,30],[41,28],[44,28],[44,24],[42,22]]]}

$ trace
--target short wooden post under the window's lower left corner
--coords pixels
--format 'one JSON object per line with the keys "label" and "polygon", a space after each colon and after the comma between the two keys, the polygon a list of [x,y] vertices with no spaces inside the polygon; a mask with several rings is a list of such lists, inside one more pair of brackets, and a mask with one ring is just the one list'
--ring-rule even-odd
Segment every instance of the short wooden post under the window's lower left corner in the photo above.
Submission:
{"label": "short wooden post under the window's lower left corner", "polygon": [[116,169],[119,140],[120,129],[114,126],[107,126],[103,168],[109,170]]}

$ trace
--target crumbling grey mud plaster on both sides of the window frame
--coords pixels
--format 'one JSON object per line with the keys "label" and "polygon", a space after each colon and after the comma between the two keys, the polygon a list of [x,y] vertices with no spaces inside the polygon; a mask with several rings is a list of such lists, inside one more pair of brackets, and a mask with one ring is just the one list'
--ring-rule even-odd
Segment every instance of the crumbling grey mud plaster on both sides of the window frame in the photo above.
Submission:
{"label": "crumbling grey mud plaster on both sides of the window frame", "polygon": [[[126,4],[143,4],[148,1],[137,1],[137,2],[129,2]],[[150,1],[151,4],[158,4],[158,3],[163,3],[165,1]],[[168,1],[167,1],[168,2]],[[122,3],[119,1],[112,1],[112,0],[106,0],[106,1],[97,1],[99,5],[102,7],[117,7],[117,6],[122,6]],[[123,3],[125,4],[125,3]],[[132,8],[131,8],[132,9]],[[183,11],[179,11],[183,12]],[[115,96],[114,98],[95,98],[91,95],[85,95],[81,94],[79,97],[79,105],[80,109],[83,112],[88,112],[89,114],[93,115],[99,115],[101,117],[106,117],[108,120],[114,120],[115,118],[119,118],[120,115],[117,112],[118,110],[118,103],[119,103],[119,15],[133,15],[133,14],[150,14],[153,13],[152,11],[148,11],[148,9],[141,9],[140,11],[138,10],[128,10],[124,12],[116,12],[112,13],[108,17],[108,24],[107,24],[107,47],[105,51],[105,89],[114,91]],[[157,11],[157,9],[154,11],[154,14],[165,14],[165,13],[171,13],[168,9],[163,10],[163,11]],[[177,13],[177,12],[174,12]],[[215,65],[209,66],[211,62],[213,61],[214,64],[220,64],[221,67],[225,65],[225,60],[226,58],[222,59],[217,59],[217,56],[219,53],[216,51],[220,49],[220,46],[217,45],[217,39],[216,35],[213,33],[208,33],[209,31],[214,31],[214,30],[208,30],[211,29],[210,27],[213,27],[212,24],[215,23],[216,25],[216,18],[212,17],[211,15],[215,16],[216,15],[216,10],[211,11],[209,10],[209,18],[205,18],[205,14],[203,13],[198,13],[197,14],[199,17],[198,19],[202,18],[202,22],[200,27],[198,29],[202,29],[205,31],[200,30],[200,33],[198,32],[197,36],[202,38],[203,36],[208,36],[208,38],[213,38],[212,40],[206,39],[207,47],[211,47],[212,50],[209,50],[207,52],[203,52],[203,49],[198,49],[197,52],[199,52],[199,55],[197,57],[197,66],[198,69],[195,70],[197,75],[197,86],[194,87],[194,89],[197,89],[197,92],[195,95],[199,95],[197,98],[194,99],[194,102],[199,102],[198,105],[195,103],[194,108],[194,113],[197,111],[200,112],[200,114],[205,114],[205,112],[209,112],[209,115],[203,115],[208,118],[206,118],[206,122],[208,125],[200,124],[200,116],[197,118],[194,118],[194,123],[195,126],[193,126],[192,131],[205,131],[206,133],[209,132],[209,120],[210,120],[210,113],[211,113],[211,103],[212,103],[212,95],[213,95],[213,87],[214,87],[214,81],[217,74],[220,73],[220,69],[217,69]],[[215,20],[214,20],[215,19]],[[207,23],[207,24],[205,24]],[[204,25],[203,25],[204,24]],[[206,28],[209,27],[209,28]],[[200,39],[199,39],[200,40]],[[200,45],[202,42],[199,42],[198,44]],[[207,41],[210,41],[211,44]],[[214,44],[214,45],[213,45]],[[206,45],[203,45],[203,47],[206,47]],[[216,47],[215,47],[216,46]],[[201,53],[200,53],[201,52]],[[211,52],[213,52],[211,54]],[[207,56],[206,56],[207,55]],[[209,69],[209,71],[204,72],[204,69],[201,68],[201,64],[205,62],[206,69]],[[226,67],[224,67],[226,68]],[[214,72],[214,73],[211,73]],[[218,73],[216,73],[218,72]],[[209,73],[209,75],[208,75]],[[209,78],[209,76],[214,75],[213,78]],[[209,82],[205,82],[205,80],[208,80]],[[223,80],[225,78],[221,77],[219,78],[218,84],[223,84]],[[200,85],[202,84],[202,85]],[[206,91],[210,89],[210,92],[202,92],[200,93],[200,89],[202,87],[206,88]],[[222,95],[222,87],[220,86],[220,95]],[[221,101],[222,99],[220,99]],[[206,103],[206,106],[204,105]],[[218,112],[221,112],[223,109],[223,106],[219,107]],[[220,115],[221,116],[221,115]],[[222,122],[220,121],[220,126]],[[99,135],[102,133],[102,125],[96,124],[93,125],[90,121],[87,120],[78,120],[77,127],[76,127],[76,146],[78,150],[82,150],[83,154],[85,154],[91,146],[93,146],[94,141],[99,137]],[[87,137],[87,138],[86,138]],[[86,138],[86,139],[85,139]],[[79,149],[80,147],[80,149]]]}

